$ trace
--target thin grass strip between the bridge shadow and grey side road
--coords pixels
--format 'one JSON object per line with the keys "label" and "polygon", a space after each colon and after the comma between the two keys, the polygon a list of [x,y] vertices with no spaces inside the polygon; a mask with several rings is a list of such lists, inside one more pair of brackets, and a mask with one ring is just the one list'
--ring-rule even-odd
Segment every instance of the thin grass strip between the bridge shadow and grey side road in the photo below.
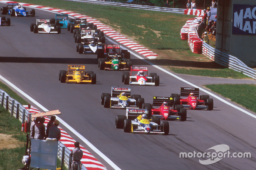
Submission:
{"label": "thin grass strip between the bridge shadow and grey side road", "polygon": [[175,73],[180,74],[189,74],[189,75],[196,75],[196,76],[207,76],[207,77],[220,77],[220,78],[236,78],[236,79],[243,79],[249,78],[248,76],[244,75],[241,72],[232,70],[232,69],[174,69],[169,67]]}

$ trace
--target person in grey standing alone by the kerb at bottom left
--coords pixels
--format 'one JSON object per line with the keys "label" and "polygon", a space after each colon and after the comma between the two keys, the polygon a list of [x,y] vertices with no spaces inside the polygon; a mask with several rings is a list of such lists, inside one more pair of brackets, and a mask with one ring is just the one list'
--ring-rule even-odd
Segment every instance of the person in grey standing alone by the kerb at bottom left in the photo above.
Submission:
{"label": "person in grey standing alone by the kerb at bottom left", "polygon": [[77,170],[78,165],[81,165],[81,159],[83,156],[83,151],[80,149],[79,142],[74,143],[75,148],[72,150],[71,155],[72,156],[72,165],[71,170]]}

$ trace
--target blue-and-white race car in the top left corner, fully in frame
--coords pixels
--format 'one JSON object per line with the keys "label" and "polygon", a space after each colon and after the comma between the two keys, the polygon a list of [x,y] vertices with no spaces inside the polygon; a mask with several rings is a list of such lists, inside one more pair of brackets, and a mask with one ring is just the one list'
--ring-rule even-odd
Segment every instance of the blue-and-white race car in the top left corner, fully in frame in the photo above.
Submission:
{"label": "blue-and-white race car in the top left corner, fully in frame", "polygon": [[8,14],[11,16],[34,17],[36,12],[34,9],[31,9],[30,12],[26,11],[26,8],[22,7],[19,3],[6,3],[6,7],[1,7],[1,14]]}

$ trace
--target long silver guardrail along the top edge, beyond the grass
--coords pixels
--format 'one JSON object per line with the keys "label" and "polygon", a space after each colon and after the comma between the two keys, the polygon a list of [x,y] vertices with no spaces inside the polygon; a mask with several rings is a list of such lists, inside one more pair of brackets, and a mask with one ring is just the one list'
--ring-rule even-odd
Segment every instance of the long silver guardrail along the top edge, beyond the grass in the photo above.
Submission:
{"label": "long silver guardrail along the top edge, beyond the grass", "polygon": [[134,5],[134,4],[124,4],[124,3],[116,3],[116,2],[105,2],[105,1],[88,1],[88,0],[63,0],[63,1],[74,1],[74,2],[82,2],[82,3],[88,3],[88,4],[119,6],[119,7],[135,8],[135,9],[150,10],[150,11],[174,12],[179,14],[184,14],[184,10],[185,10],[185,9],[179,9],[179,8]]}

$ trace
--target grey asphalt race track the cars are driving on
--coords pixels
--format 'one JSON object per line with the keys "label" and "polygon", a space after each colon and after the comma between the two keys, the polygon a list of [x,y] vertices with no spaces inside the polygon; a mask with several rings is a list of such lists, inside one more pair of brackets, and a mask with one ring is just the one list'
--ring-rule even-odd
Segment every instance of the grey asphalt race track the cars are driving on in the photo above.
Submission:
{"label": "grey asphalt race track the cars are driving on", "polygon": [[[228,105],[229,100],[214,93],[225,100],[224,103],[210,95],[214,101],[212,111],[187,110],[187,121],[169,121],[168,136],[124,133],[122,129],[115,128],[115,117],[125,115],[125,110],[107,109],[100,104],[102,92],[110,93],[111,86],[124,86],[121,81],[122,71],[100,70],[96,55],[78,54],[73,34],[66,29],[61,29],[60,34],[35,34],[29,31],[30,24],[36,23],[36,18],[55,18],[54,13],[36,9],[35,17],[10,18],[11,26],[0,27],[0,75],[48,110],[59,109],[62,120],[120,169],[255,169],[256,119]],[[153,96],[168,97],[171,93],[179,93],[180,87],[191,87],[135,56],[131,56],[131,60],[135,66],[148,66],[149,72],[156,72],[160,77],[160,85],[156,87],[125,85],[132,88],[132,94],[141,94],[146,103],[152,103]],[[59,70],[67,70],[68,64],[85,65],[86,71],[94,71],[97,75],[96,85],[60,83]],[[181,76],[200,87],[212,83],[211,78],[204,81],[202,77]],[[199,83],[195,78],[201,78]],[[214,83],[218,83],[218,79],[213,79]],[[200,91],[202,94],[206,93]],[[70,130],[60,126],[107,169],[113,169]],[[197,156],[179,157],[180,152],[215,152],[206,150],[219,144],[228,145],[231,153],[250,152],[252,158],[226,157],[211,165],[202,165]]]}

